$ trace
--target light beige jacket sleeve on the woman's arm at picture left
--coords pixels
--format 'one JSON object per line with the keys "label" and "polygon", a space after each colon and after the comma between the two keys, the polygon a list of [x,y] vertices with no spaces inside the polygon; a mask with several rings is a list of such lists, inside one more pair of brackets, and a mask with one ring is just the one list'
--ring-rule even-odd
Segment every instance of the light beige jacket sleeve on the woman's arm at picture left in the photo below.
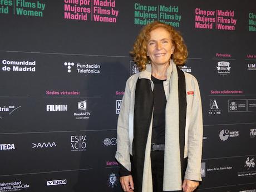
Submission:
{"label": "light beige jacket sleeve on the woman's arm at picture left", "polygon": [[[122,98],[120,114],[117,120],[117,151],[116,160],[120,165],[120,174],[128,175],[127,171],[131,171],[130,161],[130,140],[129,140],[129,111],[130,111],[130,88],[129,80],[126,82],[125,93]],[[126,169],[126,171],[125,171]],[[122,174],[123,173],[123,174]],[[121,176],[120,175],[120,176]]]}

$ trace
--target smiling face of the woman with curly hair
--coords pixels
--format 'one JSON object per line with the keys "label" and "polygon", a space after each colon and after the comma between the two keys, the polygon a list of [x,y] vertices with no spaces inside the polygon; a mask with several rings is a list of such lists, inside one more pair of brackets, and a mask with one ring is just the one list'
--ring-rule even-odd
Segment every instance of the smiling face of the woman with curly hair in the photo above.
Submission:
{"label": "smiling face of the woman with curly hair", "polygon": [[152,30],[149,34],[147,56],[149,56],[151,64],[169,65],[171,54],[174,51],[170,33],[166,29],[159,27]]}

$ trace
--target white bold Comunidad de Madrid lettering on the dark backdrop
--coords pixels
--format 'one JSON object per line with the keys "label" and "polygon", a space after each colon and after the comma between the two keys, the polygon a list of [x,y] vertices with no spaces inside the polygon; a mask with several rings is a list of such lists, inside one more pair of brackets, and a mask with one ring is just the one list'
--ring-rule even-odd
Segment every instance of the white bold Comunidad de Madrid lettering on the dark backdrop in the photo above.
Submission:
{"label": "white bold Comunidad de Madrid lettering on the dark backdrop", "polygon": [[36,72],[36,61],[2,60],[2,71]]}

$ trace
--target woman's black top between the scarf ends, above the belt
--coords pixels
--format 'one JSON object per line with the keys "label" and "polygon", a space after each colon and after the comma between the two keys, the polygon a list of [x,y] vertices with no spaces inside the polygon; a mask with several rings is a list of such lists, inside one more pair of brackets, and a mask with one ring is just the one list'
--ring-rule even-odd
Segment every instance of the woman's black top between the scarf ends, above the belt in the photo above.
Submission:
{"label": "woman's black top between the scarf ends, above the belt", "polygon": [[164,92],[164,81],[151,76],[154,83],[154,112],[152,122],[152,140],[154,144],[164,144],[165,142],[165,107],[166,97]]}

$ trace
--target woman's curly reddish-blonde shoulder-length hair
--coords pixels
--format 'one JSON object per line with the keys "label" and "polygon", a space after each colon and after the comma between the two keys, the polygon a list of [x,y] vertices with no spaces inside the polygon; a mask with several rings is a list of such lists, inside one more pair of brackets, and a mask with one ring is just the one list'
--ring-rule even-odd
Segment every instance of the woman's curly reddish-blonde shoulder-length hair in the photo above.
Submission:
{"label": "woman's curly reddish-blonde shoulder-length hair", "polygon": [[168,24],[154,21],[144,26],[134,42],[134,46],[131,55],[134,57],[134,61],[137,63],[140,71],[146,69],[147,63],[150,62],[149,56],[147,56],[147,42],[150,40],[150,32],[156,28],[164,28],[171,35],[171,41],[174,45],[174,52],[171,55],[171,59],[176,65],[183,65],[188,57],[188,50],[184,43],[183,37],[180,32],[176,31],[172,26]]}

